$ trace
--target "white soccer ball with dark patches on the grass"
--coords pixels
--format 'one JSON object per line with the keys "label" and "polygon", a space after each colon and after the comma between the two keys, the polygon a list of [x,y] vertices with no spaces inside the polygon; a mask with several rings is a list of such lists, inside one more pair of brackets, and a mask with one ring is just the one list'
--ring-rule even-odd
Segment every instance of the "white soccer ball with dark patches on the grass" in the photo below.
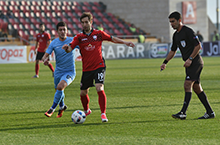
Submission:
{"label": "white soccer ball with dark patches on the grass", "polygon": [[73,112],[71,118],[75,124],[82,124],[86,120],[86,114],[81,110],[76,110]]}

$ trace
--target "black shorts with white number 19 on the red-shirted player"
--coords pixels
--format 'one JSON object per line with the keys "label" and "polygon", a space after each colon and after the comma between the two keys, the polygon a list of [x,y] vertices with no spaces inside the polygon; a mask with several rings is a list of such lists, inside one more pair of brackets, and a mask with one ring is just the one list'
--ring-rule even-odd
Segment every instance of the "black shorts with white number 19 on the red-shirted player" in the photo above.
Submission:
{"label": "black shorts with white number 19 on the red-shirted player", "polygon": [[106,67],[101,67],[93,71],[83,72],[82,78],[81,78],[80,89],[86,90],[89,87],[94,87],[95,86],[93,84],[94,80],[95,80],[95,84],[97,83],[104,84],[105,71],[106,71]]}

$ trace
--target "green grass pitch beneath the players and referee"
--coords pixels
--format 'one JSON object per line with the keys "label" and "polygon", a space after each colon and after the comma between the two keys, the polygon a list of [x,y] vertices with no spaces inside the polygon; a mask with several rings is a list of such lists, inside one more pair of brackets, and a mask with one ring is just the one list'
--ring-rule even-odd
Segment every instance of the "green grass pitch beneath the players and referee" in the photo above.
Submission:
{"label": "green grass pitch beneath the players and referee", "polygon": [[181,58],[171,60],[162,72],[164,59],[125,59],[106,60],[109,122],[101,122],[98,95],[91,88],[93,112],[83,124],[71,121],[73,111],[83,109],[79,97],[81,62],[76,62],[76,79],[65,89],[68,109],[61,118],[56,118],[58,108],[51,118],[44,115],[55,92],[48,67],[41,63],[40,78],[33,79],[34,63],[0,64],[0,144],[220,144],[220,59],[203,59],[201,84],[216,113],[215,119],[197,120],[205,109],[194,93],[186,120],[171,117],[180,111],[184,99]]}

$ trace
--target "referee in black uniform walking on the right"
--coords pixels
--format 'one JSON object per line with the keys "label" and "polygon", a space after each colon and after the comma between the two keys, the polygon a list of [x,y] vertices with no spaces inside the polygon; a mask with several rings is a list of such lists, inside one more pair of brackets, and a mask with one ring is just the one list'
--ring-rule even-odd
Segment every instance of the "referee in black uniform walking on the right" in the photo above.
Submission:
{"label": "referee in black uniform walking on the right", "polygon": [[207,96],[202,90],[202,86],[200,84],[200,73],[203,68],[203,60],[199,54],[201,44],[198,40],[198,37],[191,28],[182,24],[181,14],[179,12],[171,13],[168,18],[171,26],[176,31],[173,34],[171,51],[167,55],[167,58],[164,60],[160,68],[161,70],[166,68],[166,64],[174,57],[177,48],[179,48],[182,54],[182,59],[185,61],[184,67],[186,72],[186,79],[184,82],[185,99],[183,107],[179,113],[173,114],[172,117],[181,120],[186,119],[186,110],[191,100],[193,88],[193,91],[197,94],[199,100],[206,109],[205,115],[199,117],[198,119],[214,118],[215,113],[213,112]]}

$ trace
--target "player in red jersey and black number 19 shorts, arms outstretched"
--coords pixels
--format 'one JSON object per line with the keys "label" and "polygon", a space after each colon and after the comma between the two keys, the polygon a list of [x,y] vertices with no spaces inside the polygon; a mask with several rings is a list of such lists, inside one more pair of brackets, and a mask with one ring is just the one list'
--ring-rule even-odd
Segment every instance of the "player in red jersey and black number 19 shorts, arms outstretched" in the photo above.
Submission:
{"label": "player in red jersey and black number 19 shorts, arms outstretched", "polygon": [[117,37],[110,36],[101,30],[95,30],[92,28],[93,16],[90,12],[84,12],[80,17],[83,32],[77,34],[70,44],[63,45],[63,49],[69,53],[77,45],[80,47],[82,56],[83,72],[81,78],[81,102],[84,108],[84,112],[87,115],[91,113],[89,109],[89,88],[94,86],[95,80],[96,91],[99,96],[99,106],[101,110],[102,122],[108,122],[106,117],[106,95],[104,92],[104,80],[105,80],[105,61],[102,57],[102,41],[107,40],[113,43],[126,44],[129,47],[134,47],[132,42],[126,42]]}

